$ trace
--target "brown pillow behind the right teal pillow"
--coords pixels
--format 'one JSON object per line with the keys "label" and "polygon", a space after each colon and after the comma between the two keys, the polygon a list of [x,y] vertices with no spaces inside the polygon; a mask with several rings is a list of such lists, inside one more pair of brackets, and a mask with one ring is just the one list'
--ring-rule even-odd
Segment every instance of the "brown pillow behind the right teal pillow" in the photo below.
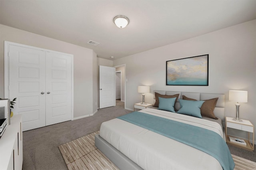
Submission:
{"label": "brown pillow behind the right teal pillow", "polygon": [[[196,99],[191,99],[191,98],[188,98],[184,95],[182,95],[182,99],[196,101]],[[205,116],[205,117],[210,117],[212,119],[218,119],[218,117],[215,117],[215,115],[213,113],[218,99],[219,98],[217,97],[217,98],[205,100],[203,105],[201,106],[201,109],[200,109],[201,110],[201,115]]]}

